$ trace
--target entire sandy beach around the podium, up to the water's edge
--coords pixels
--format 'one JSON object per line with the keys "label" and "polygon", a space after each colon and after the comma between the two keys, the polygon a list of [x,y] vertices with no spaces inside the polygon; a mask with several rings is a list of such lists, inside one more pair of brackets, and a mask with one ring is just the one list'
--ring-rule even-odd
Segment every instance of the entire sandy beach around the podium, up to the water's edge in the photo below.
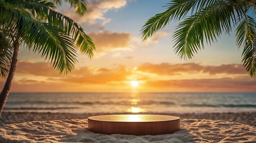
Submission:
{"label": "entire sandy beach around the podium, up to the water's edge", "polygon": [[99,114],[3,112],[0,143],[256,143],[256,113],[173,113],[182,118],[182,130],[157,136],[94,134],[87,130],[93,115]]}

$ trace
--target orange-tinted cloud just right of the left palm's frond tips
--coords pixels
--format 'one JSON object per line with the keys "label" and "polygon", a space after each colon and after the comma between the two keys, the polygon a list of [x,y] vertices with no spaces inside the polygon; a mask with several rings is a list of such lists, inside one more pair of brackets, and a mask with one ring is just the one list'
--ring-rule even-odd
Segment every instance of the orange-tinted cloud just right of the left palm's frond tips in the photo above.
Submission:
{"label": "orange-tinted cloud just right of the left palm's frond tips", "polygon": [[114,50],[128,50],[133,47],[130,45],[132,34],[128,32],[117,33],[110,31],[101,31],[99,33],[90,33],[96,48],[96,53]]}

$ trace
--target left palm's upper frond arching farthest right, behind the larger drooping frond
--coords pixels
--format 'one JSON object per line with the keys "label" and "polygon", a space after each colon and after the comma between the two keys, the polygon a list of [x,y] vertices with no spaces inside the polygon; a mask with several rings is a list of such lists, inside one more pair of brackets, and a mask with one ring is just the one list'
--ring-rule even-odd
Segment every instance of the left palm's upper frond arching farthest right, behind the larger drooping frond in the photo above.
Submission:
{"label": "left palm's upper frond arching farthest right, behind the larger drooping frond", "polygon": [[[96,49],[93,40],[84,32],[83,28],[74,22],[71,18],[54,10],[54,6],[42,0],[34,0],[38,2],[30,2],[24,4],[27,9],[34,9],[34,15],[43,15],[47,18],[47,22],[63,27],[67,33],[72,35],[75,45],[80,49],[81,53],[85,53],[89,58],[93,57]],[[40,3],[41,2],[41,3]]]}

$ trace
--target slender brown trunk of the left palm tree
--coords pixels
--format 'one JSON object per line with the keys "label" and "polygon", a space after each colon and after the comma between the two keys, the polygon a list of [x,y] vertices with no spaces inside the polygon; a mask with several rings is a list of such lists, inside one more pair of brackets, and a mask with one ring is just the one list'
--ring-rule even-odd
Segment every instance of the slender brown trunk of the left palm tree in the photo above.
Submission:
{"label": "slender brown trunk of the left palm tree", "polygon": [[0,116],[2,114],[2,110],[4,109],[4,105],[7,101],[8,95],[10,93],[14,73],[15,73],[16,67],[18,65],[18,52],[19,52],[19,48],[20,48],[20,44],[19,44],[18,39],[16,39],[13,42],[13,48],[14,48],[14,51],[13,51],[13,56],[12,56],[12,60],[11,60],[9,75],[7,77],[7,80],[6,80],[5,84],[4,84],[4,88],[3,88],[3,90],[0,94]]}

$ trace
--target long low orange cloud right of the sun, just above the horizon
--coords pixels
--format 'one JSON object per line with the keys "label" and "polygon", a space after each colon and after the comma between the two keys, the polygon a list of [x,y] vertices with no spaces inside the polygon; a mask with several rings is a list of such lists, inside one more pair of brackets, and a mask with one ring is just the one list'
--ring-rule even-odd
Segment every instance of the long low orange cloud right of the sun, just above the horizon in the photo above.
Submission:
{"label": "long low orange cloud right of the sun, just above the horizon", "polygon": [[248,77],[220,78],[220,79],[182,79],[182,80],[155,80],[148,81],[144,86],[150,90],[162,91],[229,91],[229,92],[255,92],[256,81]]}

